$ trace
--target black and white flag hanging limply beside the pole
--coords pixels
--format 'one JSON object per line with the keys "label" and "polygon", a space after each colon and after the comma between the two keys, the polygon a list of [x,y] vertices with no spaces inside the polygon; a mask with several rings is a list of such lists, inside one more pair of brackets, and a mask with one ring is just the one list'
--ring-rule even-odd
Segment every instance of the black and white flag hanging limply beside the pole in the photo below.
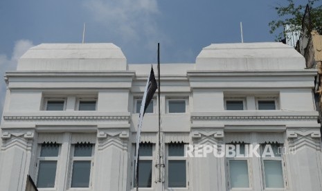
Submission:
{"label": "black and white flag hanging limply beside the pole", "polygon": [[135,172],[136,172],[136,180],[138,179],[138,147],[140,143],[140,134],[141,134],[141,127],[142,127],[142,121],[143,116],[145,113],[145,110],[147,109],[147,106],[150,104],[153,95],[158,89],[158,84],[156,84],[155,76],[153,67],[151,66],[151,72],[149,75],[149,78],[147,79],[147,84],[145,85],[145,90],[141,102],[141,109],[140,109],[140,116],[138,118],[138,130],[136,131],[136,160],[135,160]]}

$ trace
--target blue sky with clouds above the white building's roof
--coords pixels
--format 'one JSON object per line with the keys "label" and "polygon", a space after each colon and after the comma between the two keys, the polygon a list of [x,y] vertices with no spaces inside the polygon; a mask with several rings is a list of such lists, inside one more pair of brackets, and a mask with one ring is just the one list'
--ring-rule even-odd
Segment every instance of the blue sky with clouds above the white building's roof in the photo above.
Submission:
{"label": "blue sky with clouds above the white building's roof", "polygon": [[[155,63],[158,42],[161,63],[195,62],[211,43],[240,42],[240,21],[244,42],[273,42],[268,23],[277,18],[278,2],[1,0],[0,74],[15,70],[19,56],[30,46],[81,42],[84,22],[85,42],[112,42],[128,63]],[[0,84],[3,100],[6,84]]]}

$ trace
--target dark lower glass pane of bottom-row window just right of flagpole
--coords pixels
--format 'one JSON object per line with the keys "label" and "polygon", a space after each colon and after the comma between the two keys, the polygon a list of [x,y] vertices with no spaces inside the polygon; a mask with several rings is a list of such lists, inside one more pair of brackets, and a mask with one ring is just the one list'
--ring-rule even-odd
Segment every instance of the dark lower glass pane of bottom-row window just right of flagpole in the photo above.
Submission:
{"label": "dark lower glass pane of bottom-row window just right of flagpole", "polygon": [[168,161],[168,187],[186,188],[186,161]]}

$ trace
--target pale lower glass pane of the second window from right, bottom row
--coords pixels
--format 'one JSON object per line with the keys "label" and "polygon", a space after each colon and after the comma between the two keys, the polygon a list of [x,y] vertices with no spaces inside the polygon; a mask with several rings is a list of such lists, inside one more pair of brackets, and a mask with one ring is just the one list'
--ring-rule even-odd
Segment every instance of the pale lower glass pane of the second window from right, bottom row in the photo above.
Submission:
{"label": "pale lower glass pane of the second window from right, bottom row", "polygon": [[248,166],[246,160],[230,160],[231,188],[249,188]]}

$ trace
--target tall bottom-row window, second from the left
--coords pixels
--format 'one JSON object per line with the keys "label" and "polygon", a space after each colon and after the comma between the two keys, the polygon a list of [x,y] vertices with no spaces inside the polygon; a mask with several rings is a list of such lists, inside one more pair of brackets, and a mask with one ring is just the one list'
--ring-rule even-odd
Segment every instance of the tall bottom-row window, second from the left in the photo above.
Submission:
{"label": "tall bottom-row window, second from the left", "polygon": [[71,188],[89,188],[93,144],[75,144],[71,170]]}

